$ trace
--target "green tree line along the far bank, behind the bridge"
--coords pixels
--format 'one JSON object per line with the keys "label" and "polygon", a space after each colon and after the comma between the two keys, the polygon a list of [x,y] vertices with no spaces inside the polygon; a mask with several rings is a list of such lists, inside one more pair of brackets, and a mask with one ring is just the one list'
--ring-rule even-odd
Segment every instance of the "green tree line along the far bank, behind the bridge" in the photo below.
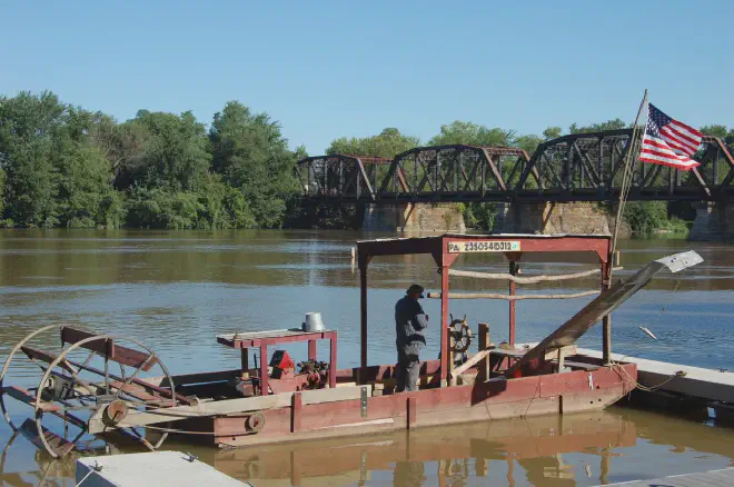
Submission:
{"label": "green tree line along the far bank, behind the bridge", "polygon": [[[568,128],[569,133],[626,127],[621,119]],[[734,129],[702,131],[734,142]],[[532,153],[563,135],[542,136],[466,121],[440,127],[426,145],[518,147]],[[393,158],[421,141],[386,128],[376,136],[337,138],[327,153]],[[140,110],[118,122],[67,105],[50,92],[0,96],[0,227],[280,228],[313,221],[299,206],[295,167],[302,147],[288,148],[267,113],[230,101],[209,128],[191,112]],[[466,215],[490,227],[493,206]],[[475,215],[476,213],[476,215]],[[318,225],[318,221],[314,221]],[[346,225],[337,218],[337,226]]]}

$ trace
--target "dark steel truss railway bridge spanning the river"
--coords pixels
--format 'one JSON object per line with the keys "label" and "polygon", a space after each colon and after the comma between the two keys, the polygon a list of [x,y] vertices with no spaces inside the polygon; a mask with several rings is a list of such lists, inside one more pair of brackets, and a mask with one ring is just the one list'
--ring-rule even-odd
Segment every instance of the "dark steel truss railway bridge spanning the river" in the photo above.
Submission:
{"label": "dark steel truss railway bridge spanning the river", "polygon": [[[546,141],[533,156],[480,146],[418,147],[395,156],[329,155],[302,159],[302,198],[323,203],[540,202],[618,199],[632,129],[575,133]],[[635,165],[629,200],[725,202],[734,195],[734,151],[704,137],[698,168]]]}

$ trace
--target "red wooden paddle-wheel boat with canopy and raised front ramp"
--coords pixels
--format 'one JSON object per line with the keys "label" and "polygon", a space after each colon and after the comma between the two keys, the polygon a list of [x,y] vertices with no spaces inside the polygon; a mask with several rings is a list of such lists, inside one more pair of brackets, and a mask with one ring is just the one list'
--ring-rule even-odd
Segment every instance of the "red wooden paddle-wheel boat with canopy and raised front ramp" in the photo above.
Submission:
{"label": "red wooden paddle-wheel boat with canopy and raised front ramp", "polygon": [[[52,457],[82,449],[97,438],[110,443],[127,438],[156,449],[169,434],[182,434],[235,447],[601,410],[633,390],[637,378],[634,364],[611,359],[611,312],[662,269],[676,272],[702,261],[693,251],[677,254],[614,281],[611,249],[609,236],[446,233],[358,241],[360,359],[356,367],[337,368],[337,331],[326,329],[318,315],[309,315],[301,327],[232,329],[216,336],[221,346],[238,350],[239,366],[187,375],[171,375],[161,357],[137,337],[53,325],[11,350],[0,376],[0,405],[13,430]],[[493,254],[506,260],[508,272],[453,269],[465,254]],[[396,394],[396,366],[368,360],[368,269],[384,256],[408,255],[433,257],[440,277],[439,292],[428,294],[440,300],[437,336],[428,337],[439,340],[440,356],[421,361],[418,390]],[[519,272],[525,262],[538,261],[594,267],[569,275]],[[516,292],[518,285],[595,275],[598,290]],[[508,294],[450,294],[449,276],[507,281]],[[598,296],[539,344],[516,344],[517,301],[591,295]],[[450,299],[507,300],[507,338],[497,345],[490,339],[490,331],[492,338],[498,332],[487,322],[496,317],[482,317],[485,322],[476,327],[466,317],[454,319]],[[603,357],[579,354],[576,340],[599,321]],[[48,334],[60,334],[60,352],[37,348]],[[319,340],[329,344],[328,360],[317,357]],[[307,360],[295,362],[286,350],[274,350],[292,342],[308,344]],[[38,386],[26,389],[10,384],[7,376],[14,368],[13,359],[38,366]],[[29,405],[32,417],[14,425],[6,407],[9,398]]]}

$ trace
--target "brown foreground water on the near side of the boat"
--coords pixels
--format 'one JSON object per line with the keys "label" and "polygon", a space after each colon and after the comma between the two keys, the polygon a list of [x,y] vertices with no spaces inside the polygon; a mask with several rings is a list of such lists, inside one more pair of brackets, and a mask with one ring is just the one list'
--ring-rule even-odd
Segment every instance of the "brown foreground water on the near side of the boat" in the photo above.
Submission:
{"label": "brown foreground water on the near side of the boat", "polygon": [[[733,433],[612,408],[224,451],[176,439],[166,448],[192,451],[257,487],[572,487],[734,466]],[[73,456],[57,461],[28,447],[9,439],[2,485],[73,485]]]}

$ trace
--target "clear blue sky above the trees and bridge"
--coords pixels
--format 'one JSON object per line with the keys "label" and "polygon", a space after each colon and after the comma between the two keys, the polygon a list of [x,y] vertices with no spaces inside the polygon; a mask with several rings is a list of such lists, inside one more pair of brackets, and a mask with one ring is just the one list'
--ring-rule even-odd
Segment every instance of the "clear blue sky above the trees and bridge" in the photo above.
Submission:
{"label": "clear blue sky above the trees and bridge", "polygon": [[385,127],[631,120],[645,88],[684,122],[734,126],[734,1],[396,3],[3,2],[0,93],[206,123],[237,99],[313,155]]}

